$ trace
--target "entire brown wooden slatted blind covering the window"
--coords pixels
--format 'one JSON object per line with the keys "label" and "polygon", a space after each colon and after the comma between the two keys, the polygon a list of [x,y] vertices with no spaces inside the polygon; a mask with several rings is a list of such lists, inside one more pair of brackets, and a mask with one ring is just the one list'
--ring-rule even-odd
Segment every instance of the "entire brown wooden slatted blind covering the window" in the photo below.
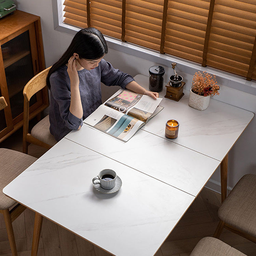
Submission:
{"label": "entire brown wooden slatted blind covering the window", "polygon": [[65,0],[64,22],[256,80],[255,0]]}

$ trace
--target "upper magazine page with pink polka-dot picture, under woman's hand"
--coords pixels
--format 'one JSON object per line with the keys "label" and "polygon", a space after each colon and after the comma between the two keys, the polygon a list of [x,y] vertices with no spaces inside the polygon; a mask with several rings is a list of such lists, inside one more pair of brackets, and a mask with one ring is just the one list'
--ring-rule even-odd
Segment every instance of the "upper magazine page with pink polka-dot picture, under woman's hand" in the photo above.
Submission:
{"label": "upper magazine page with pink polka-dot picture, under woman's hand", "polygon": [[148,118],[150,118],[157,109],[161,100],[161,98],[153,99],[147,95],[136,94],[132,91],[120,89],[104,104],[119,112],[137,118],[142,122],[147,122]]}

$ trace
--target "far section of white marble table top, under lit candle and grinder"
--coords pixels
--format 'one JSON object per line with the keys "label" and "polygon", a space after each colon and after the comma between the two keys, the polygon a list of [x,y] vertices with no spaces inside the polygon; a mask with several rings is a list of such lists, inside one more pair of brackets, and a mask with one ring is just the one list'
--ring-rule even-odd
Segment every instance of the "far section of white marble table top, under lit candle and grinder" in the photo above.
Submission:
{"label": "far section of white marble table top, under lit candle and grinder", "polygon": [[[134,79],[148,89],[148,76],[136,75]],[[164,109],[141,129],[165,138],[165,124],[169,119],[180,123],[179,135],[172,141],[222,161],[252,120],[254,113],[210,99],[208,109],[200,111],[188,105],[189,91],[176,102],[164,98],[166,87],[159,97]]]}

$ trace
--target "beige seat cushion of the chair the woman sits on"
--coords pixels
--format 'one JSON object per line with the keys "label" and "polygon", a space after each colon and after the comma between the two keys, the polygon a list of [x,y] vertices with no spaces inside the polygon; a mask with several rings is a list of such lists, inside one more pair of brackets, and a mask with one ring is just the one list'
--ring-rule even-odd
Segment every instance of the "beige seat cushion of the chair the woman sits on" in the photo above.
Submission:
{"label": "beige seat cushion of the chair the woman sits on", "polygon": [[47,115],[32,128],[31,135],[34,138],[41,140],[50,146],[54,146],[57,143],[57,141],[55,140],[54,136],[50,133],[49,127],[49,115]]}

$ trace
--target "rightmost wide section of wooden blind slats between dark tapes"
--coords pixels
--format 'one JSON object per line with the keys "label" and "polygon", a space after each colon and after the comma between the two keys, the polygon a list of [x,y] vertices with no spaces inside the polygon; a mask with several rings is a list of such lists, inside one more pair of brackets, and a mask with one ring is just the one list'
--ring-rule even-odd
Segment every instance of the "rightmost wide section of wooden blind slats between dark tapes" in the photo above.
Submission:
{"label": "rightmost wide section of wooden blind slats between dark tapes", "polygon": [[246,77],[255,31],[254,0],[215,0],[206,65]]}

